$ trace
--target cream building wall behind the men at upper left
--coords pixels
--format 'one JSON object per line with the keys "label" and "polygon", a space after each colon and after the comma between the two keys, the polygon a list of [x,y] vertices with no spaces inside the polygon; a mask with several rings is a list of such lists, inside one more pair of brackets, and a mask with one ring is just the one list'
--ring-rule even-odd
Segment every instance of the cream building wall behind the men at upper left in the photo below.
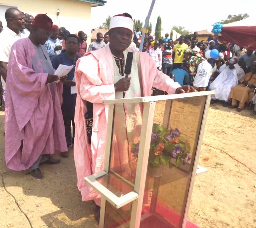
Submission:
{"label": "cream building wall behind the men at upper left", "polygon": [[[39,13],[47,13],[53,20],[53,24],[65,27],[70,33],[84,31],[88,45],[91,43],[91,4],[76,0],[1,0],[1,5],[17,6],[24,13],[36,16]],[[4,6],[2,6],[4,7]],[[57,16],[57,9],[60,10]],[[6,25],[5,20],[3,24]]]}

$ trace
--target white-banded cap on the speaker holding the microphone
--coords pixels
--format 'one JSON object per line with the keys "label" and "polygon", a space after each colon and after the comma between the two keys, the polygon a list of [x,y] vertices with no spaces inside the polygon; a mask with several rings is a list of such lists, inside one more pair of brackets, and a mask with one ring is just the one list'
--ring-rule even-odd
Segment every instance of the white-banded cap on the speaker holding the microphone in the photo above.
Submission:
{"label": "white-banded cap on the speaker holding the microphone", "polygon": [[126,28],[133,33],[133,20],[125,14],[115,15],[110,20],[109,29]]}

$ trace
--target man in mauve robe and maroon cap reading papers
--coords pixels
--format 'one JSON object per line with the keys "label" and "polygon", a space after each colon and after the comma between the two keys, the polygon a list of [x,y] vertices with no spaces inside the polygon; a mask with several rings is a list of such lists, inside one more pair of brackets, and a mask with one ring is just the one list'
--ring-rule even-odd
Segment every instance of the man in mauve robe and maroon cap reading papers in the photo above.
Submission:
{"label": "man in mauve robe and maroon cap reading papers", "polygon": [[61,112],[63,83],[54,83],[58,76],[44,47],[51,28],[52,20],[38,14],[30,36],[13,44],[7,69],[6,165],[28,170],[38,179],[43,178],[39,164],[59,163],[50,154],[67,151]]}

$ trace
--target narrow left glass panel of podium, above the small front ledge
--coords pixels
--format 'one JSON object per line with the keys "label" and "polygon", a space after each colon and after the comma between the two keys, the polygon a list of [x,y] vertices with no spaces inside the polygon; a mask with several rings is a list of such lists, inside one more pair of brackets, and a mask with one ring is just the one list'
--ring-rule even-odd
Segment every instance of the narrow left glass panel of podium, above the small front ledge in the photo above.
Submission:
{"label": "narrow left glass panel of podium, above the small front ledge", "polygon": [[[139,148],[142,103],[116,104],[109,172],[134,186]],[[120,186],[121,187],[121,186]],[[122,191],[122,189],[120,189]]]}

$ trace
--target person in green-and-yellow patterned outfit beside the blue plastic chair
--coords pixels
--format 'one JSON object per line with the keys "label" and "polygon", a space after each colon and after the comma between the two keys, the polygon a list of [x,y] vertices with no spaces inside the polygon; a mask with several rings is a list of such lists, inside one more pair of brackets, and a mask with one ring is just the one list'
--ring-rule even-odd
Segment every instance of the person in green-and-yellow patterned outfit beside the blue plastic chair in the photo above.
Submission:
{"label": "person in green-and-yellow patterned outfit beside the blue plastic chair", "polygon": [[190,85],[193,85],[194,77],[197,72],[197,66],[199,63],[204,61],[205,59],[196,51],[192,51],[190,48],[187,48],[184,53],[183,57],[188,60],[189,63],[189,75],[190,75]]}

